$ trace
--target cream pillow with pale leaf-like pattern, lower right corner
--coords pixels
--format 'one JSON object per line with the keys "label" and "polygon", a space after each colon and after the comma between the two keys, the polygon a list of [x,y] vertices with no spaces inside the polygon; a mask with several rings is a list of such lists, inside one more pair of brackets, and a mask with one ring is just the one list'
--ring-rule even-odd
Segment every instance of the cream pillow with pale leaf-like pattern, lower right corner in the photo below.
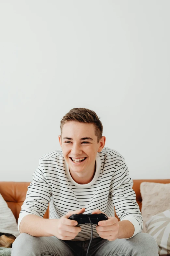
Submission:
{"label": "cream pillow with pale leaf-like pattern, lower right corner", "polygon": [[158,213],[146,222],[147,233],[159,246],[159,255],[170,255],[170,209]]}

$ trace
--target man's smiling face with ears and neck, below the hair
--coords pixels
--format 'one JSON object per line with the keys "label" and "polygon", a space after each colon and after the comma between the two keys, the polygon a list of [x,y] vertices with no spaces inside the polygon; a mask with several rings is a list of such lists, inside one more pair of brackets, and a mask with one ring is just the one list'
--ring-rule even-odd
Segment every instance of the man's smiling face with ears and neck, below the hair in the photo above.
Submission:
{"label": "man's smiling face with ears and neck, below the hair", "polygon": [[[72,178],[79,184],[92,180],[97,152],[101,152],[105,146],[106,137],[102,136],[97,143],[94,129],[93,124],[67,121],[62,129],[62,138],[59,135],[64,160],[69,165]],[[72,159],[79,161],[73,162]]]}

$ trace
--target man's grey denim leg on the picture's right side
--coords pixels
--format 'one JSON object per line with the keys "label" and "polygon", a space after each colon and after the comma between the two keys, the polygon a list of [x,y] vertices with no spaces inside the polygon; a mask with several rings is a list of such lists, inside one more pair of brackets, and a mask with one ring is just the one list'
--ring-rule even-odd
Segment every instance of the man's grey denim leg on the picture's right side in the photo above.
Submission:
{"label": "man's grey denim leg on the picture's right side", "polygon": [[159,256],[159,247],[148,233],[138,233],[129,239],[93,240],[88,256]]}

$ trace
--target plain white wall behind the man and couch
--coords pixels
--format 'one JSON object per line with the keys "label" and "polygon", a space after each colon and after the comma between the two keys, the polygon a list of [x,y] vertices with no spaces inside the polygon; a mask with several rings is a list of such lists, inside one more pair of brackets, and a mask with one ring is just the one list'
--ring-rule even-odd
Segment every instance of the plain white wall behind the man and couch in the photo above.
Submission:
{"label": "plain white wall behind the man and couch", "polygon": [[0,180],[32,181],[89,108],[133,179],[170,179],[170,1],[0,1]]}

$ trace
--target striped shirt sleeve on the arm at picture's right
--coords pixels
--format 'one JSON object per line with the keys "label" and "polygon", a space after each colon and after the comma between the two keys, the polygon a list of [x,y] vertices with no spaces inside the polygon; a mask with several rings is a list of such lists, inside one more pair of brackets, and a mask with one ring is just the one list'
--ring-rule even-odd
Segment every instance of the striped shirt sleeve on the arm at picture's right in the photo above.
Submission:
{"label": "striped shirt sleeve on the arm at picture's right", "polygon": [[115,165],[110,185],[110,197],[120,221],[129,220],[134,225],[133,236],[135,236],[143,229],[143,219],[132,187],[133,180],[129,177],[128,167],[122,157]]}

